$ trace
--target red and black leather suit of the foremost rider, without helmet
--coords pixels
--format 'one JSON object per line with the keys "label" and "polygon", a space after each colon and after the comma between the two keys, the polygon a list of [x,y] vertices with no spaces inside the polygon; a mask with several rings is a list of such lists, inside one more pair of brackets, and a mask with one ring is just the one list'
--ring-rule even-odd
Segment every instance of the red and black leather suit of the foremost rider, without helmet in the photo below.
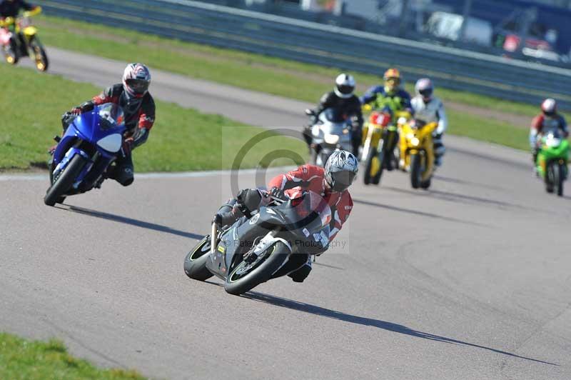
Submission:
{"label": "red and black leather suit of the foremost rider, without helmet", "polygon": [[[345,224],[353,209],[353,200],[349,191],[330,191],[325,182],[325,169],[319,166],[305,164],[295,170],[276,176],[268,183],[268,189],[273,188],[284,191],[284,194],[291,198],[295,197],[298,191],[303,190],[313,191],[323,196],[323,199],[328,202],[331,208],[331,215],[333,216],[330,224],[329,241],[335,239],[335,236],[343,228],[343,224]],[[241,201],[251,204],[248,206],[248,209],[253,211],[253,209],[268,204],[268,201],[270,201],[269,197],[264,197],[266,193],[262,193],[258,189],[243,190],[241,194],[244,195],[239,195],[238,198],[242,197]],[[243,216],[237,203],[237,199],[231,199],[231,201],[221,206],[216,216],[218,219],[215,219],[218,221],[218,224],[230,225]],[[311,271],[310,255],[295,254],[292,256],[288,264],[276,273],[276,277],[288,274],[293,281],[303,282]]]}

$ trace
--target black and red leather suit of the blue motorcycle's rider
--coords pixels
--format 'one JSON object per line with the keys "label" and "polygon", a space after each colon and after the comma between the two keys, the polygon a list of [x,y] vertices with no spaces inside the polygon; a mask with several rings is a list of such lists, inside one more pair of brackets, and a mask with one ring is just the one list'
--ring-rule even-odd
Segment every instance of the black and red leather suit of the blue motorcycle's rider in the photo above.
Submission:
{"label": "black and red leather suit of the blue motorcycle's rider", "polygon": [[[127,131],[123,135],[123,149],[121,155],[116,160],[114,169],[108,169],[108,177],[115,179],[123,186],[133,183],[133,159],[131,151],[137,146],[141,146],[148,139],[148,134],[155,122],[155,102],[148,92],[142,98],[127,96],[123,89],[123,84],[114,84],[103,90],[101,94],[95,96],[90,101],[86,101],[77,109],[81,113],[91,111],[94,106],[105,103],[114,103],[121,106],[125,113],[125,126]],[[62,124],[64,130],[67,129],[73,119],[64,119]]]}

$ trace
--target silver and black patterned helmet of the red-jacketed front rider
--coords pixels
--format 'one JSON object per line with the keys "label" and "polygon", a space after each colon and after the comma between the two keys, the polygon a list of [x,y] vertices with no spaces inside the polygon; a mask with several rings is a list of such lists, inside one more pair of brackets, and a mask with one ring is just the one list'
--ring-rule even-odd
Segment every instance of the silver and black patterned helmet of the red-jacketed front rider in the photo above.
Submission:
{"label": "silver and black patterned helmet of the red-jacketed front rider", "polygon": [[359,171],[357,157],[348,151],[334,151],[325,162],[325,181],[333,191],[345,191]]}

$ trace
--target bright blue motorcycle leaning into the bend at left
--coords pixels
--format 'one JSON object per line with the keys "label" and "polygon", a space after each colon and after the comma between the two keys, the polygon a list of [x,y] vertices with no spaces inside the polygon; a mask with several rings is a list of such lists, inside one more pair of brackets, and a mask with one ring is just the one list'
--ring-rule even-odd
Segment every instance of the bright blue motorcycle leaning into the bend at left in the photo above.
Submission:
{"label": "bright blue motorcycle leaning into the bend at left", "polygon": [[76,116],[64,136],[56,137],[44,203],[54,206],[66,196],[100,187],[109,166],[121,154],[125,131],[123,109],[117,104],[101,104]]}

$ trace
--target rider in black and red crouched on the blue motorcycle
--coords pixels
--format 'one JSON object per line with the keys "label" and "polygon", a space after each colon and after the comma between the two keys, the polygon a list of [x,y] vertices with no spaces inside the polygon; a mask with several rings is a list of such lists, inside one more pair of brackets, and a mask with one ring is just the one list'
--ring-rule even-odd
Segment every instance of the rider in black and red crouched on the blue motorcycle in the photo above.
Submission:
{"label": "rider in black and red crouched on the blue motorcycle", "polygon": [[[121,155],[116,166],[108,171],[108,176],[119,184],[128,186],[133,183],[133,159],[131,151],[144,144],[155,122],[155,102],[148,92],[151,84],[151,73],[144,64],[128,64],[123,71],[123,81],[103,90],[90,101],[76,106],[64,115],[62,125],[64,131],[76,116],[91,111],[94,106],[105,103],[115,103],[121,106],[125,113],[127,132],[123,141]],[[55,146],[50,149],[51,152]]]}

